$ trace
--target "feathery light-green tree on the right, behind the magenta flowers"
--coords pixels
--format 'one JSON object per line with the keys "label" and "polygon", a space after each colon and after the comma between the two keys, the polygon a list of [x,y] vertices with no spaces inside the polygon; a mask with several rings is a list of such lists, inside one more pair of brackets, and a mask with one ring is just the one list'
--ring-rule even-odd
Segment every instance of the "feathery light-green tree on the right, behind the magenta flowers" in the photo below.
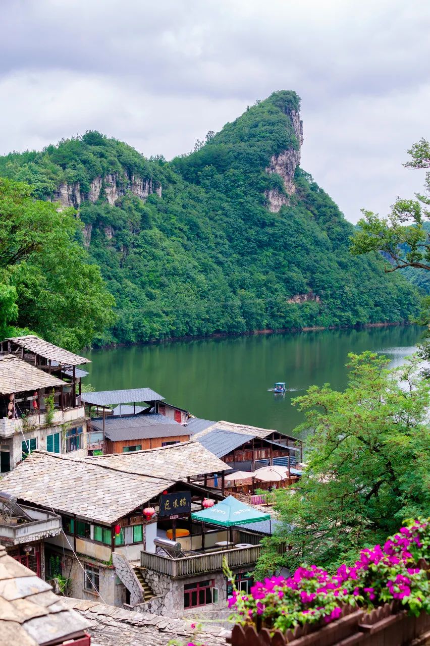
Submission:
{"label": "feathery light-green tree on the right, behind the magenta flowers", "polygon": [[[337,567],[384,541],[402,519],[430,509],[430,385],[418,361],[387,370],[369,351],[349,355],[344,392],[311,386],[294,404],[311,429],[305,474],[295,492],[276,492],[282,519],[265,539],[257,576],[285,565]],[[280,545],[289,546],[279,550]]]}

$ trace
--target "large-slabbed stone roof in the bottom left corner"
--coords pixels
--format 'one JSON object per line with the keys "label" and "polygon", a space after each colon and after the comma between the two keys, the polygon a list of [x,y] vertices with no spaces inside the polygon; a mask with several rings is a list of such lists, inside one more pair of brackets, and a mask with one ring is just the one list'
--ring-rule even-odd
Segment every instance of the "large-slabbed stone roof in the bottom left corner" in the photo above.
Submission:
{"label": "large-slabbed stone roof in the bottom left corner", "polygon": [[89,625],[36,572],[8,556],[0,545],[1,646],[39,646],[54,640],[59,643]]}

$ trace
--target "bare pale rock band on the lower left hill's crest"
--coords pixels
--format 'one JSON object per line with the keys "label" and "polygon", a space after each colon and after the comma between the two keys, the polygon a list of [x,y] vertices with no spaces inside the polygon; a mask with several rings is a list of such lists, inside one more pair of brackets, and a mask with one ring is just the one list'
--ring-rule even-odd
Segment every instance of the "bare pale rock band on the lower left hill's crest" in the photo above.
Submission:
{"label": "bare pale rock band on the lower left hill's crest", "polygon": [[97,202],[102,189],[104,189],[107,202],[112,206],[127,191],[130,191],[141,200],[146,200],[150,193],[156,193],[161,197],[161,185],[159,183],[154,184],[152,180],[128,175],[127,173],[119,174],[114,172],[104,177],[98,176],[92,180],[88,193],[81,191],[79,182],[60,184],[51,199],[52,202],[60,202],[63,207],[71,206],[79,209],[81,203],[85,200],[92,203]]}

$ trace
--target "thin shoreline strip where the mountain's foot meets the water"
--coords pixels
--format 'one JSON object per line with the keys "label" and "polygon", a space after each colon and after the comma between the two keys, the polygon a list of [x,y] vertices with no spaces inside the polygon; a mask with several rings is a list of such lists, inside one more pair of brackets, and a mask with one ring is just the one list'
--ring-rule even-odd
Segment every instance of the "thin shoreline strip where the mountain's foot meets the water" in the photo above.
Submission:
{"label": "thin shoreline strip where the mountain's foot meets the water", "polygon": [[409,321],[402,322],[377,322],[377,323],[360,323],[354,326],[307,326],[304,328],[263,328],[256,330],[249,330],[246,332],[214,332],[208,335],[185,335],[183,337],[168,337],[167,339],[150,339],[147,341],[135,341],[132,343],[108,343],[103,346],[96,346],[90,348],[83,348],[84,350],[110,350],[115,348],[130,348],[132,346],[154,346],[158,344],[173,343],[177,341],[201,341],[205,339],[228,339],[234,337],[254,337],[256,335],[270,335],[270,334],[298,334],[300,332],[322,332],[325,330],[335,329],[367,329],[367,328],[393,328],[400,326],[412,325]]}

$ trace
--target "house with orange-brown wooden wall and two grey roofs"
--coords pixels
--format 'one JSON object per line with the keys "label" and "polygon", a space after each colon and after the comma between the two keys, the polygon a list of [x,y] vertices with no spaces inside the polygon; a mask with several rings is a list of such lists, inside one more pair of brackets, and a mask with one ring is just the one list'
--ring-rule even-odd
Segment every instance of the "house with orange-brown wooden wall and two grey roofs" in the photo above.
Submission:
{"label": "house with orange-brown wooden wall and two grey roofs", "polygon": [[130,453],[190,439],[185,427],[190,414],[150,388],[84,393],[82,401],[90,415],[99,415],[90,421],[89,455]]}

